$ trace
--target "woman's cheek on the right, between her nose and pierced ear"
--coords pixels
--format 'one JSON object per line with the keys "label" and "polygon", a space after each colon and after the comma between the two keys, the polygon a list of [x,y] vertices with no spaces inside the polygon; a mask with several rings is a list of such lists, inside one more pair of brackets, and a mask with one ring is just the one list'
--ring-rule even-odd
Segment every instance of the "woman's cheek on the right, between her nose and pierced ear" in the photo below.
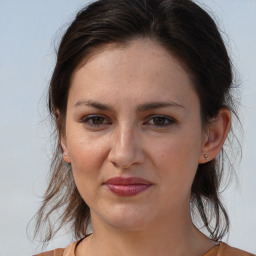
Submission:
{"label": "woman's cheek on the right, between her nose and pierced ear", "polygon": [[190,191],[201,153],[201,133],[198,130],[179,130],[163,141],[154,142],[151,159],[157,166],[159,179],[166,187]]}

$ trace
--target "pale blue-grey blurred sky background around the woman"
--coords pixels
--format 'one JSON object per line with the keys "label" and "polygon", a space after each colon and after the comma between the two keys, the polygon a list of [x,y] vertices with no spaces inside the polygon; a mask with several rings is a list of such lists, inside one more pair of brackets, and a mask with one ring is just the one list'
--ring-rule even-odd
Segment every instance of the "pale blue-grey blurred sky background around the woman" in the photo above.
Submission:
{"label": "pale blue-grey blurred sky background around the woman", "polygon": [[[29,240],[50,164],[46,91],[55,44],[88,1],[0,0],[0,256],[40,252]],[[223,192],[230,245],[256,253],[256,0],[200,0],[223,31],[241,86],[243,158]],[[233,161],[234,159],[231,159]],[[27,234],[28,233],[28,234]],[[45,249],[70,243],[64,232]]]}

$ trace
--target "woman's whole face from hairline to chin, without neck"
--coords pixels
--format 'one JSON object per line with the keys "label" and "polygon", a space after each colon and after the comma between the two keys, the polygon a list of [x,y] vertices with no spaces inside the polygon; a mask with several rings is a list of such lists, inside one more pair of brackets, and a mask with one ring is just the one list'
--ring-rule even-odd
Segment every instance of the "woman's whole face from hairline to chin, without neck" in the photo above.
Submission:
{"label": "woman's whole face from hairline to chin, without neck", "polygon": [[134,230],[187,215],[203,137],[189,76],[158,43],[108,45],[75,70],[62,147],[92,221]]}

